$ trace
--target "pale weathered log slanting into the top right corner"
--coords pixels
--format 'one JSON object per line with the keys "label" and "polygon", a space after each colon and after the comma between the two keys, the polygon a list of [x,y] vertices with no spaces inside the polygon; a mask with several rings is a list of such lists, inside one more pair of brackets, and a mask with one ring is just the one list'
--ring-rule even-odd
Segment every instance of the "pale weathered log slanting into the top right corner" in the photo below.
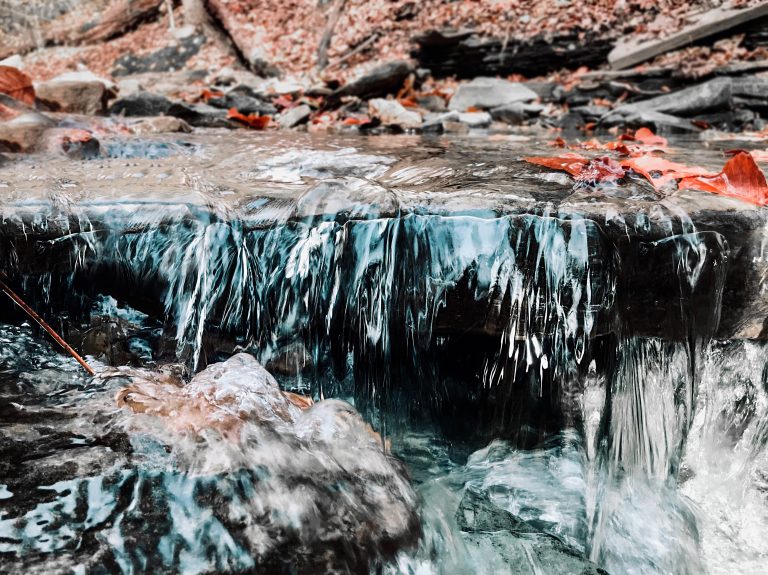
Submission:
{"label": "pale weathered log slanting into the top right corner", "polygon": [[697,40],[733,29],[742,24],[768,16],[768,2],[744,9],[716,8],[705,12],[694,23],[661,39],[619,41],[608,54],[608,62],[616,70],[636,66],[654,56],[682,48]]}

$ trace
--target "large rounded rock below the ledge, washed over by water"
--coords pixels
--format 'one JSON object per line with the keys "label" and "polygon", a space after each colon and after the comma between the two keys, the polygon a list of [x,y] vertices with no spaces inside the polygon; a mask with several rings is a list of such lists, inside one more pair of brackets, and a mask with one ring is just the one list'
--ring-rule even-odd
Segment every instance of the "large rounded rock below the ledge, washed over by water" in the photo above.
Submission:
{"label": "large rounded rock below the ledge, washed over by water", "polygon": [[8,443],[0,427],[12,570],[367,573],[418,537],[401,464],[351,405],[284,394],[246,354],[180,375],[104,371],[67,392],[79,400],[61,425],[66,407],[40,414],[57,426],[42,440],[31,412],[0,409],[22,428]]}

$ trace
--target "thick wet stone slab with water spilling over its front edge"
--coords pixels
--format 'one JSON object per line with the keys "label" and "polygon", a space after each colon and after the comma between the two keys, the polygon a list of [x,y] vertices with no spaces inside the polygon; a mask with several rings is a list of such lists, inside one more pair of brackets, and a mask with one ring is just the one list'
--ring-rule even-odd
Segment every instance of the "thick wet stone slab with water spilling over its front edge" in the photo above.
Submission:
{"label": "thick wet stone slab with water spilling over its front edge", "polygon": [[[0,168],[0,260],[18,276],[131,268],[154,309],[183,283],[164,266],[231,264],[238,246],[255,268],[303,278],[291,284],[300,291],[323,283],[314,275],[322,262],[322,273],[354,269],[360,280],[396,261],[390,279],[407,285],[399,297],[408,300],[399,308],[435,316],[423,329],[415,322],[423,337],[501,334],[520,314],[499,288],[499,266],[513,262],[529,287],[550,292],[529,313],[544,333],[536,310],[557,296],[587,320],[590,337],[619,328],[619,307],[622,329],[640,335],[679,339],[682,325],[706,331],[714,322],[719,337],[768,337],[765,209],[694,191],[660,197],[640,180],[574,189],[521,160],[551,155],[545,139],[209,130],[105,141],[111,157],[90,161],[22,157]],[[701,148],[680,141],[672,153],[722,164]],[[207,261],[192,262],[190,242]],[[228,272],[217,280],[237,281]],[[720,317],[705,318],[720,299]],[[682,317],[689,308],[701,319]]]}

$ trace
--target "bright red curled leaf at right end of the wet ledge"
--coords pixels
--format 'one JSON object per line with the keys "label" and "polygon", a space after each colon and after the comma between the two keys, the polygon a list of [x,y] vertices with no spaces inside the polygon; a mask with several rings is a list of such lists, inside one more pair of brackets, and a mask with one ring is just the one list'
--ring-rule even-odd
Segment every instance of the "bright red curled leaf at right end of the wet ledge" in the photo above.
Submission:
{"label": "bright red curled leaf at right end of the wet ledge", "polygon": [[768,183],[754,158],[739,152],[728,160],[719,174],[684,178],[678,189],[697,189],[741,198],[758,206],[768,205]]}

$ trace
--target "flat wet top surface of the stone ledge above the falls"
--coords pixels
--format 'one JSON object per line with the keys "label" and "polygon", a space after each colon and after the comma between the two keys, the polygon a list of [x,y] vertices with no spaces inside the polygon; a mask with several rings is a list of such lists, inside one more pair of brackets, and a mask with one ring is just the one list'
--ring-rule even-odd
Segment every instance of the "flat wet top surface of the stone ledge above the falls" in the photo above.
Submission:
{"label": "flat wet top surface of the stone ledge above the falls", "polygon": [[[624,267],[637,270],[653,268],[653,258],[638,255],[640,246],[661,253],[666,249],[661,240],[712,232],[721,239],[707,245],[717,244],[721,247],[711,249],[722,252],[712,261],[728,261],[720,335],[765,337],[765,209],[697,191],[662,197],[642,180],[575,188],[566,175],[522,160],[556,155],[547,139],[546,134],[429,138],[223,130],[101,138],[107,157],[19,156],[0,167],[0,236],[57,241],[105,226],[135,233],[161,223],[210,218],[266,229],[291,221],[314,225],[409,214],[489,222],[534,215],[588,220],[603,238],[600,245],[608,246],[601,250],[611,251],[613,245],[627,260]],[[723,142],[723,147],[734,143]],[[697,140],[673,142],[669,157],[713,170],[723,164],[721,152]],[[672,284],[650,269],[644,273],[632,289],[638,303],[650,299],[645,303],[658,309],[657,316],[649,316],[654,324],[674,307],[670,295],[656,293],[654,284],[665,289]],[[639,315],[648,313],[646,308]],[[640,331],[659,329],[648,325]]]}

